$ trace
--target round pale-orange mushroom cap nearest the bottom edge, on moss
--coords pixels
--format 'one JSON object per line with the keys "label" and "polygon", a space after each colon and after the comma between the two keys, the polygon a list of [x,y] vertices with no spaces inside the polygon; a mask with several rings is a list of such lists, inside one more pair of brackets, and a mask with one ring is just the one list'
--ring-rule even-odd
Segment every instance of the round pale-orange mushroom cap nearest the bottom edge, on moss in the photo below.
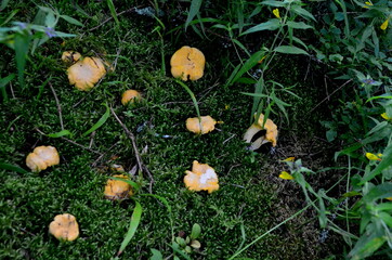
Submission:
{"label": "round pale-orange mushroom cap nearest the bottom edge, on moss", "polygon": [[57,214],[50,223],[49,232],[60,240],[75,240],[79,236],[79,225],[71,214]]}

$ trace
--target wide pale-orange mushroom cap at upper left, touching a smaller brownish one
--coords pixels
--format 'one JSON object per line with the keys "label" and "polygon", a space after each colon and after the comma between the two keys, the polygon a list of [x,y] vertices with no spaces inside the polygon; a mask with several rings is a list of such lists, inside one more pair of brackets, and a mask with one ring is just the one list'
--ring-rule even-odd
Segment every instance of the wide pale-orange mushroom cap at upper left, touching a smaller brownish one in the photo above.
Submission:
{"label": "wide pale-orange mushroom cap at upper left, touching a smaller brownish one", "polygon": [[99,57],[84,57],[67,69],[70,84],[78,90],[89,91],[106,74],[105,65]]}

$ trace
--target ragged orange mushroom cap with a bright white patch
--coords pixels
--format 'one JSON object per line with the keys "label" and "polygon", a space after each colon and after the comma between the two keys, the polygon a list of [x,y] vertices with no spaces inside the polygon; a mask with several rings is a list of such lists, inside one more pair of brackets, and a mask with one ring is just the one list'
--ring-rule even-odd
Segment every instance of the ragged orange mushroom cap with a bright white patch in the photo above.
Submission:
{"label": "ragged orange mushroom cap with a bright white patch", "polygon": [[218,176],[209,165],[194,160],[192,171],[187,170],[185,172],[184,183],[190,191],[208,191],[208,193],[212,193],[219,190]]}

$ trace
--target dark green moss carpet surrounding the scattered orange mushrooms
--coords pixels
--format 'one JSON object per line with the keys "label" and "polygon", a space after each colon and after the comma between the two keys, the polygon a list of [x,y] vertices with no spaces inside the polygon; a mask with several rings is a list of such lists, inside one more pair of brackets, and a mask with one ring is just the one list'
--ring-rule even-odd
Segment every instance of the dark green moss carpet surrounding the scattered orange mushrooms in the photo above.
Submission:
{"label": "dark green moss carpet surrounding the scattered orange mushrooms", "polygon": [[[37,8],[32,3],[15,2],[4,12],[19,9],[15,18],[32,21]],[[95,132],[82,135],[105,113],[104,104],[113,107],[135,134],[142,159],[155,180],[153,193],[165,197],[172,207],[174,234],[181,231],[188,234],[194,223],[200,224],[201,248],[191,255],[193,259],[227,259],[243,242],[247,245],[305,206],[301,190],[278,178],[285,170],[279,160],[295,156],[312,170],[332,165],[335,147],[325,141],[319,120],[330,116],[326,110],[328,102],[321,102],[337,86],[328,81],[329,89],[326,89],[322,69],[301,56],[282,55],[275,60],[267,77],[284,86],[296,84],[292,91],[301,99],[287,96],[285,100],[292,105],[288,108],[289,122],[278,113],[271,115],[279,128],[276,154],[252,154],[241,140],[249,127],[252,99],[240,92],[252,92],[253,87],[224,88],[233,69],[226,64],[236,55],[231,47],[224,47],[223,39],[201,39],[190,28],[186,34],[180,29],[161,39],[153,31],[158,24],[152,17],[127,12],[119,16],[117,27],[106,1],[81,5],[90,17],[66,2],[52,1],[52,4],[62,14],[82,21],[84,26],[61,22],[57,30],[77,37],[52,38],[41,46],[27,62],[25,89],[14,80],[8,87],[10,101],[1,104],[3,162],[27,170],[25,158],[39,145],[55,146],[61,155],[58,166],[40,173],[0,170],[1,259],[115,257],[127,233],[134,202],[107,200],[103,190],[113,174],[110,165],[122,165],[130,171],[136,159],[131,141],[113,115]],[[117,12],[132,4],[118,4]],[[166,22],[167,30],[174,27]],[[201,136],[186,131],[185,119],[195,117],[196,110],[188,93],[170,74],[170,56],[185,44],[201,50],[207,60],[205,76],[186,82],[199,102],[201,115],[224,121],[219,129]],[[61,61],[66,50],[104,55],[117,62],[116,69],[92,91],[80,92],[68,83],[66,67]],[[2,47],[1,77],[16,72],[13,56],[11,49]],[[120,96],[127,89],[141,91],[143,101],[133,107],[122,106]],[[71,136],[43,134],[61,131],[61,120],[64,129],[73,132]],[[147,127],[136,131],[144,122]],[[162,134],[173,138],[162,138]],[[185,188],[184,171],[191,169],[193,160],[215,169],[220,180],[218,192],[194,193]],[[339,172],[311,178],[318,187],[328,188],[339,179]],[[140,193],[148,193],[147,176],[135,181],[143,183]],[[172,256],[170,216],[166,207],[152,197],[135,197],[143,207],[142,220],[120,258],[148,259],[151,248],[160,250],[165,257]],[[77,218],[81,233],[75,242],[61,243],[48,232],[54,216],[63,212]],[[342,250],[342,244],[339,245],[332,234],[321,243],[321,232],[315,213],[308,210],[260,239],[240,257],[322,259]]]}

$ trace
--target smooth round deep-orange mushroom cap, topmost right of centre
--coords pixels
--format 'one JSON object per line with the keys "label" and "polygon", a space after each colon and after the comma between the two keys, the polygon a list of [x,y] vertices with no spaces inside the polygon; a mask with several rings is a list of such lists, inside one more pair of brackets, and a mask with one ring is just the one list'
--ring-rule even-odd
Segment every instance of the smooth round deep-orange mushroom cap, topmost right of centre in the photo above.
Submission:
{"label": "smooth round deep-orange mushroom cap, topmost right of centre", "polygon": [[197,80],[202,77],[206,57],[201,51],[187,46],[174,52],[170,60],[171,75],[186,81]]}

